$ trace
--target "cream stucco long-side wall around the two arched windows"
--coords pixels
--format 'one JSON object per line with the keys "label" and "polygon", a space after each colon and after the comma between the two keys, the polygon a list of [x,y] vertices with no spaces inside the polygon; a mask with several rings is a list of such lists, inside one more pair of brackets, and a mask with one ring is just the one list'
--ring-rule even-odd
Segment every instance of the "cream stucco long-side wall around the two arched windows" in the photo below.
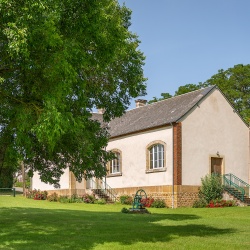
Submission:
{"label": "cream stucco long-side wall around the two arched windows", "polygon": [[[165,172],[146,173],[146,147],[155,140],[166,145]],[[122,176],[107,177],[112,188],[172,185],[172,127],[150,130],[110,140],[107,150],[122,151]]]}

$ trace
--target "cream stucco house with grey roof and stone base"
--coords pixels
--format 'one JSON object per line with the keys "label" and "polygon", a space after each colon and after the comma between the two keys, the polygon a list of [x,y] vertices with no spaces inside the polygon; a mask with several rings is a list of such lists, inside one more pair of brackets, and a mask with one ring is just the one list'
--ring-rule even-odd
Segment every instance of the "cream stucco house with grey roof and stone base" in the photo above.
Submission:
{"label": "cream stucco house with grey roof and stone base", "polygon": [[[101,121],[102,114],[93,118]],[[249,127],[216,86],[150,105],[138,100],[109,126],[107,150],[117,158],[107,165],[105,181],[118,195],[142,188],[170,207],[190,206],[209,173],[232,173],[249,183]],[[78,183],[67,170],[57,191],[81,194],[93,183]],[[54,191],[38,175],[33,188]]]}

